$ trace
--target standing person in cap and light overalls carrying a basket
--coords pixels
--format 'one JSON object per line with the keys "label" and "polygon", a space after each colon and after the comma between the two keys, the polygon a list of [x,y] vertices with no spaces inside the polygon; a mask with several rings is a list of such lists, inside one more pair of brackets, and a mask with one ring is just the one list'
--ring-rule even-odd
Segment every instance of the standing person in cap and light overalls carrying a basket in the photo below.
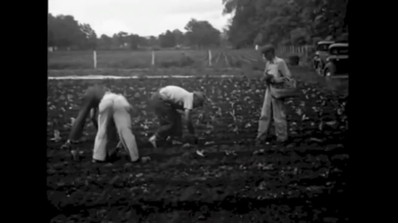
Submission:
{"label": "standing person in cap and light overalls carrying a basket", "polygon": [[264,71],[264,79],[267,85],[263,107],[258,123],[257,141],[261,143],[267,138],[271,117],[275,121],[275,133],[277,142],[285,142],[287,140],[287,123],[285,105],[283,99],[276,99],[271,95],[269,86],[277,86],[283,84],[284,77],[291,77],[286,62],[275,56],[275,48],[272,45],[266,45],[261,48],[263,58],[267,60]]}

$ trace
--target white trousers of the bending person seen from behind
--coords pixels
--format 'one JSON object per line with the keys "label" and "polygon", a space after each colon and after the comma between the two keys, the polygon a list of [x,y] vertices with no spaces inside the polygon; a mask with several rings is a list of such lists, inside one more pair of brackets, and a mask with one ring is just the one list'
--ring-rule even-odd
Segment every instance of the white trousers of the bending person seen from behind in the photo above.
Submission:
{"label": "white trousers of the bending person seen from behind", "polygon": [[129,153],[131,161],[137,161],[139,153],[135,136],[131,131],[129,102],[122,95],[107,93],[98,107],[98,131],[94,142],[93,159],[100,161],[106,159],[107,128],[113,118],[121,144]]}

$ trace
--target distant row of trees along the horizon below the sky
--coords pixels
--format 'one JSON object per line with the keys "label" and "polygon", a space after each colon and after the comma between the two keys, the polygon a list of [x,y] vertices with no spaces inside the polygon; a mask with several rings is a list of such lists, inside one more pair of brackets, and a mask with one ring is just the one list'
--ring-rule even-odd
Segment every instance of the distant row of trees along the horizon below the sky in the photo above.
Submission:
{"label": "distant row of trees along the horizon below the sky", "polygon": [[79,23],[72,15],[48,14],[48,46],[73,50],[114,50],[146,48],[210,48],[219,47],[224,39],[218,29],[208,21],[191,19],[185,25],[185,32],[179,29],[167,30],[158,37],[142,37],[134,33],[120,31],[111,37],[100,37],[90,24]]}

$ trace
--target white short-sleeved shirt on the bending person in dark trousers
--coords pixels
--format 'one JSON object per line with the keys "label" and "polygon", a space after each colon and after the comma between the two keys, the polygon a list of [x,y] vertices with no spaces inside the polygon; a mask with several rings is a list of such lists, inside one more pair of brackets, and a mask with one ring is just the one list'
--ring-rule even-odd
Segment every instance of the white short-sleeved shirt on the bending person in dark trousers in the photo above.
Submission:
{"label": "white short-sleeved shirt on the bending person in dark trousers", "polygon": [[178,107],[189,110],[193,108],[193,93],[184,88],[169,85],[161,88],[159,94],[163,100],[171,102]]}

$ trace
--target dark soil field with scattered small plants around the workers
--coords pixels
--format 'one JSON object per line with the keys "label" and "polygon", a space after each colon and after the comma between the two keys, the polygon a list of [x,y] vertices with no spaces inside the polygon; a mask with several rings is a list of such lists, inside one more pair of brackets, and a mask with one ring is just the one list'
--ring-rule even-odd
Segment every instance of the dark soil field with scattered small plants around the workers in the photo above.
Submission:
{"label": "dark soil field with scattered small plants around the workers", "polygon": [[[134,105],[133,131],[140,154],[151,161],[131,164],[118,151],[113,163],[92,164],[91,124],[86,140],[74,148],[77,156],[60,149],[80,96],[94,83],[123,93]],[[302,95],[286,102],[290,143],[256,147],[265,88],[257,79],[49,80],[51,222],[348,221],[346,99],[315,84],[298,84]],[[153,149],[145,143],[158,126],[148,100],[165,85],[203,90],[210,99],[195,113],[198,146]],[[51,140],[55,130],[58,142]]]}

